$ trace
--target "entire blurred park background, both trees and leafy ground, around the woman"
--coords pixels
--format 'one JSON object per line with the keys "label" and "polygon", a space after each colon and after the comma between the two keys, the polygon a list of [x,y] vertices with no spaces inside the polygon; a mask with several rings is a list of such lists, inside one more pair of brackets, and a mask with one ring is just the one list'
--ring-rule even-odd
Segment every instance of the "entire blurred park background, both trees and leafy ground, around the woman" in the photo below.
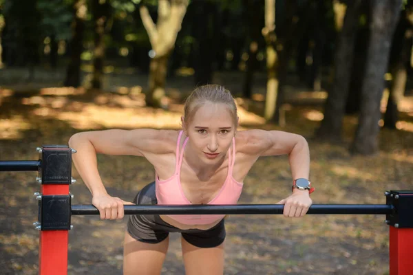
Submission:
{"label": "entire blurred park background, both trees and leafy ground, around the woman", "polygon": [[[184,98],[216,83],[235,96],[240,129],[308,139],[317,203],[382,203],[386,188],[412,189],[412,42],[412,0],[0,0],[0,159],[33,159],[36,146],[66,144],[78,131],[179,129]],[[124,199],[152,181],[145,160],[99,159],[107,188]],[[242,202],[273,203],[287,194],[288,188],[273,188],[275,181],[290,184],[288,163],[278,159],[257,162],[247,181],[260,184],[246,186]],[[0,267],[35,274],[35,203],[23,209],[34,176],[0,179],[7,198],[0,218],[8,219]],[[71,190],[77,203],[90,204],[84,186]],[[266,227],[250,228],[248,219]],[[248,219],[229,219],[235,241],[227,248],[233,260],[226,274],[388,272],[387,232],[377,225],[383,217],[319,218],[330,227],[306,217],[288,232],[273,217]],[[78,239],[69,270],[119,272],[119,225],[74,220]],[[91,228],[100,233],[86,234]],[[292,228],[324,239],[306,244]],[[260,236],[260,248],[245,243]],[[97,241],[103,239],[115,248]],[[182,274],[178,248],[171,250],[176,256],[166,273]],[[303,261],[290,259],[303,254]]]}

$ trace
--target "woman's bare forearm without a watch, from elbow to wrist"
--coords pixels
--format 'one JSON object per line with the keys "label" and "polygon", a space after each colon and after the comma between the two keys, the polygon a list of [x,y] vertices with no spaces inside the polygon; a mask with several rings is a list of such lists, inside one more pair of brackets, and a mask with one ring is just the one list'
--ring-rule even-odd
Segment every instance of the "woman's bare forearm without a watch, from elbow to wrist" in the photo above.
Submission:
{"label": "woman's bare forearm without a watch, from elbow to wrist", "polygon": [[82,135],[74,135],[69,140],[69,146],[77,151],[72,155],[74,166],[92,195],[107,194],[98,172],[96,150],[93,144]]}

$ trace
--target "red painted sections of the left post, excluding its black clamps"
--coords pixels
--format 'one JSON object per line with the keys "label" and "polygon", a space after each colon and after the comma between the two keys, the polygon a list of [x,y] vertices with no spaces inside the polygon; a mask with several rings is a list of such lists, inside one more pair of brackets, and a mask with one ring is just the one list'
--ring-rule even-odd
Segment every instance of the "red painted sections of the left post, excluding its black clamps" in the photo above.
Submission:
{"label": "red painted sections of the left post, excluding its black clamps", "polygon": [[[42,185],[43,195],[69,195],[69,186]],[[40,232],[39,275],[66,275],[69,230]]]}

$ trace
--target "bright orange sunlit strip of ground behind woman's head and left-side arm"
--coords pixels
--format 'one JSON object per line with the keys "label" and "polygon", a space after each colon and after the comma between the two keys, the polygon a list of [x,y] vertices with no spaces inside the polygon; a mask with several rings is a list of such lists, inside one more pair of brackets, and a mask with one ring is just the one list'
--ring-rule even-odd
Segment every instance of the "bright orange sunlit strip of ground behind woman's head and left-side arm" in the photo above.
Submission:
{"label": "bright orange sunlit strip of ground behind woman's head and left-side arm", "polygon": [[[122,89],[120,89],[122,92]],[[103,129],[103,128],[156,128],[179,129],[180,117],[183,113],[182,104],[171,104],[170,110],[152,109],[145,107],[145,95],[141,89],[131,89],[123,92],[128,94],[102,94],[96,96],[93,102],[83,102],[67,96],[82,95],[83,89],[45,88],[39,95],[23,98],[21,104],[33,107],[30,115],[44,119],[54,118],[69,123],[74,129]],[[7,95],[13,93],[7,90]],[[6,95],[6,94],[5,94]],[[240,129],[244,124],[264,124],[264,119],[254,113],[238,107]],[[17,138],[21,130],[30,129],[30,124],[21,116],[2,120],[0,123],[0,138]]]}

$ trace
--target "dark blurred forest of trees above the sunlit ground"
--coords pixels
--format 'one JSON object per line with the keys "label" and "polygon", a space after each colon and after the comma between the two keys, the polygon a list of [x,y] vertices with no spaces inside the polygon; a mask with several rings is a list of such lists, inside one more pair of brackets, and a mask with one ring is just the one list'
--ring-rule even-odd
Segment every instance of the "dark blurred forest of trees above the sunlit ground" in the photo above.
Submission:
{"label": "dark blurred forest of trees above the sunlit ground", "polygon": [[354,153],[377,151],[379,126],[412,129],[398,112],[412,91],[412,1],[2,0],[0,7],[3,87],[50,82],[95,96],[141,93],[147,106],[168,109],[175,78],[231,87],[234,76],[242,85],[233,94],[275,124],[285,124],[294,91],[327,98],[318,137],[339,139],[343,116],[357,113]]}

